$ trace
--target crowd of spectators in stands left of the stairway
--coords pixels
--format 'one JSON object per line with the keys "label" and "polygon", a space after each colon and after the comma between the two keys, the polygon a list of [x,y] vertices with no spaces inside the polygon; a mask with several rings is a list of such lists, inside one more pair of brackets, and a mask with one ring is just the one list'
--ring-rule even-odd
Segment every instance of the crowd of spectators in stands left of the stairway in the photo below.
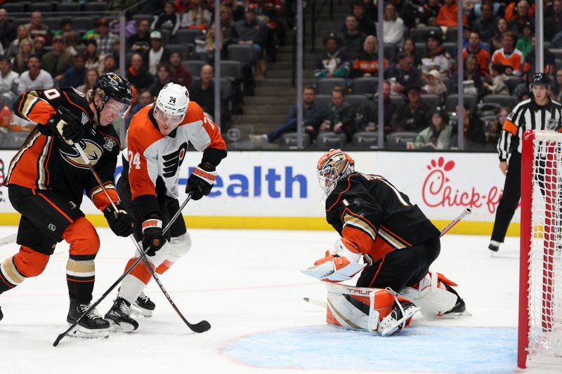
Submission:
{"label": "crowd of spectators in stands left of the stairway", "polygon": [[[91,12],[89,4],[96,2],[105,6]],[[117,72],[124,58],[133,107],[152,102],[164,85],[174,82],[186,86],[191,99],[212,117],[215,50],[219,48],[221,58],[228,60],[230,46],[243,46],[242,52],[249,51],[252,58],[238,59],[241,74],[224,78],[228,83],[224,90],[228,96],[223,97],[228,102],[221,111],[224,124],[230,109],[240,110],[242,95],[253,93],[254,77],[264,76],[266,60],[275,60],[284,35],[280,0],[221,1],[218,46],[211,0],[149,0],[138,6],[130,0],[76,1],[77,10],[86,12],[77,14],[61,11],[63,1],[52,1],[45,15],[32,3],[26,3],[27,8],[18,7],[16,1],[2,3],[0,107],[11,107],[18,95],[32,89],[72,86],[86,93],[98,76]],[[15,16],[8,13],[16,8]],[[126,8],[131,8],[124,27],[126,55],[120,56],[119,18],[108,12]],[[192,66],[197,66],[196,72]]]}

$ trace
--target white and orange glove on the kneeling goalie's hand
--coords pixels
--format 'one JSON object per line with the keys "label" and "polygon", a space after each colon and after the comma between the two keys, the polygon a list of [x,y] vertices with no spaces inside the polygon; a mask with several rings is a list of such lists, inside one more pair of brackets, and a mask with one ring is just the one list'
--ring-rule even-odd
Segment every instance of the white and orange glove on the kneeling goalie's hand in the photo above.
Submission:
{"label": "white and orange glove on the kneeling goalie's hand", "polygon": [[358,264],[361,254],[350,251],[345,243],[351,245],[346,239],[339,239],[336,241],[334,253],[326,251],[325,258],[315,261],[314,266],[301,272],[320,281],[341,282],[353,278],[367,264]]}

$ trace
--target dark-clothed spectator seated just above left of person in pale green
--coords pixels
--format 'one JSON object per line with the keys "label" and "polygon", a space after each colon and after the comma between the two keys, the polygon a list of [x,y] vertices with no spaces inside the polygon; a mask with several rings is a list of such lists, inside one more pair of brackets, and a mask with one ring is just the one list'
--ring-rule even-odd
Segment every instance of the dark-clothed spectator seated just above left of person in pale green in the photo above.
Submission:
{"label": "dark-clothed spectator seated just above left of person in pale green", "polygon": [[391,119],[393,132],[410,131],[419,133],[427,126],[431,108],[421,101],[421,87],[415,84],[404,90],[407,102],[394,112]]}

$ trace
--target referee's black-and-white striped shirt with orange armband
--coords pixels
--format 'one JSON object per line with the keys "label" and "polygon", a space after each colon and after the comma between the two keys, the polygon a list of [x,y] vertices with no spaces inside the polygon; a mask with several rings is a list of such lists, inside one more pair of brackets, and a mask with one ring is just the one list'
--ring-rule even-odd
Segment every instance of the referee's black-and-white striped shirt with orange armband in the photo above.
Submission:
{"label": "referee's black-and-white striped shirt with orange armband", "polygon": [[516,149],[521,153],[519,141],[526,130],[551,130],[562,132],[562,105],[549,100],[547,105],[537,105],[532,99],[523,100],[511,111],[502,126],[497,142],[501,161],[509,159]]}

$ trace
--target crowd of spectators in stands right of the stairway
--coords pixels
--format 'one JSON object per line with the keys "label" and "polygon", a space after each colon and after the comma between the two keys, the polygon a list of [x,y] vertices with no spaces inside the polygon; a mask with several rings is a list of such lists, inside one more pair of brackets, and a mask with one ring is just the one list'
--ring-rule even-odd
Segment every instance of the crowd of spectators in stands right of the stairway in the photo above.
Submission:
{"label": "crowd of spectators in stands right of the stairway", "polygon": [[[353,145],[354,135],[377,131],[377,79],[384,69],[386,147],[455,149],[460,55],[464,149],[495,149],[502,119],[530,95],[527,79],[535,71],[535,4],[469,0],[463,5],[460,54],[457,0],[386,0],[381,64],[377,6],[370,0],[351,1],[341,29],[324,38],[325,52],[315,65],[316,96],[305,89],[304,125],[311,144],[325,147],[322,133],[333,133],[334,142],[339,135],[341,144],[348,146]],[[562,61],[557,62],[551,46],[562,48],[562,0],[544,1],[543,69],[552,76],[551,99],[560,100]],[[280,128],[252,140],[273,142],[292,131],[296,131],[294,108]]]}

